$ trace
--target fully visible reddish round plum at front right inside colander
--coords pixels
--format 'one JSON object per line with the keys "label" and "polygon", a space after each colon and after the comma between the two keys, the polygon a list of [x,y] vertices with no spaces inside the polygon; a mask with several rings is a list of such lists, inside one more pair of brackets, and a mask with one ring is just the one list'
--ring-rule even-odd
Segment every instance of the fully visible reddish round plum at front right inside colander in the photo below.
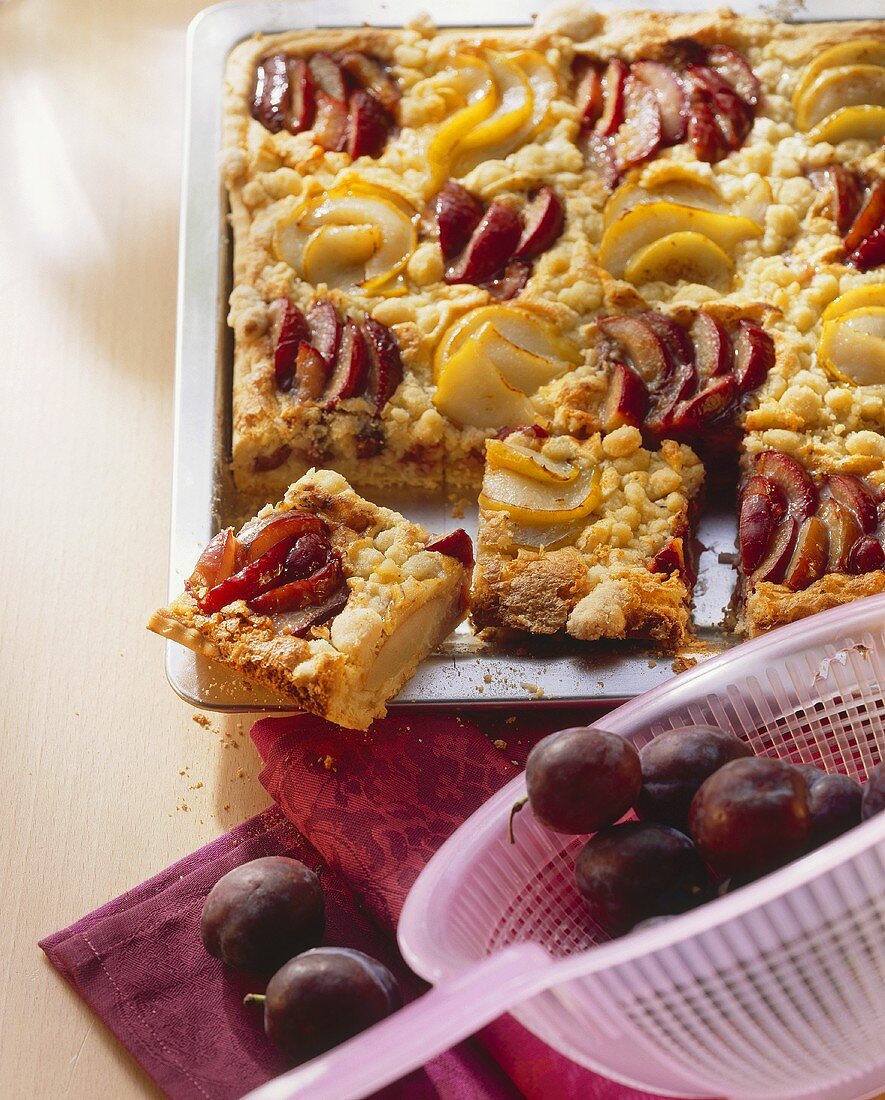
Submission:
{"label": "fully visible reddish round plum at front right inside colander", "polygon": [[688,814],[692,837],[720,875],[756,875],[803,854],[811,814],[805,778],[782,760],[732,760],[705,780]]}

